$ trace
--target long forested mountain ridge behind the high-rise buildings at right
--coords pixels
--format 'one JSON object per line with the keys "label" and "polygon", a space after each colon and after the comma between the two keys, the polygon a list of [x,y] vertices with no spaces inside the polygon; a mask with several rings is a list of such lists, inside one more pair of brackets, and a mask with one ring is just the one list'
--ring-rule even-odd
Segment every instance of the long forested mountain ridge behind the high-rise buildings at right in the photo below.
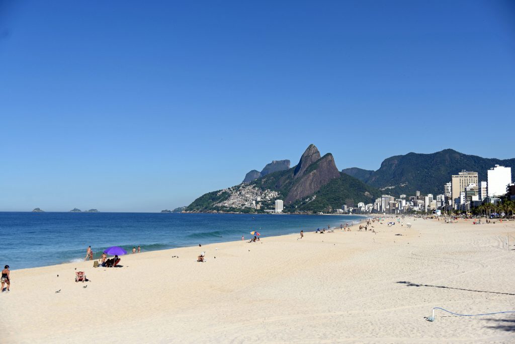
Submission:
{"label": "long forested mountain ridge behind the high-rise buildings at right", "polygon": [[358,177],[365,183],[380,188],[386,194],[413,195],[443,193],[443,185],[461,170],[475,171],[478,181],[487,180],[487,170],[496,164],[515,168],[515,159],[490,159],[468,155],[453,149],[421,154],[407,153],[385,159],[381,167],[368,177],[360,168],[344,169],[348,175]]}

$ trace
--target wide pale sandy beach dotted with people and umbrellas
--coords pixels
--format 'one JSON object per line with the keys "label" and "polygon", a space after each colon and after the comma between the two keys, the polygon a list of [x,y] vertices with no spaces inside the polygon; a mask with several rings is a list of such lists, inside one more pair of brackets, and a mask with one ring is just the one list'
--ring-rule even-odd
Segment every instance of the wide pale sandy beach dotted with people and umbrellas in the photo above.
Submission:
{"label": "wide pale sandy beach dotted with people and umbrellas", "polygon": [[515,223],[403,221],[13,270],[0,341],[515,341],[515,314],[424,319],[515,311]]}

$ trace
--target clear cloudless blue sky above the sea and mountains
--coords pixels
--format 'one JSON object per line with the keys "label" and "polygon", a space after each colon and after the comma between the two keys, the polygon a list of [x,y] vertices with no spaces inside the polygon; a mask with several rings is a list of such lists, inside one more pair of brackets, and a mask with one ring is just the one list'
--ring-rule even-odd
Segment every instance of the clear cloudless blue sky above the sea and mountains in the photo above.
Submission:
{"label": "clear cloudless blue sky above the sea and mountains", "polygon": [[0,0],[0,211],[161,211],[314,143],[514,158],[515,2]]}

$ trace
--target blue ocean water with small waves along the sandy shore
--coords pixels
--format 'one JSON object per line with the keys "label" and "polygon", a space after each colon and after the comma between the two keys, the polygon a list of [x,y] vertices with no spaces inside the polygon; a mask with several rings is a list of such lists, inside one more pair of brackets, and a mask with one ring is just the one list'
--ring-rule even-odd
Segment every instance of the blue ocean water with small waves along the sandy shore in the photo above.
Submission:
{"label": "blue ocean water with small waves along the sandy shore", "polygon": [[0,265],[12,270],[94,257],[110,246],[128,252],[196,246],[339,227],[363,216],[181,214],[181,213],[9,213],[0,212]]}

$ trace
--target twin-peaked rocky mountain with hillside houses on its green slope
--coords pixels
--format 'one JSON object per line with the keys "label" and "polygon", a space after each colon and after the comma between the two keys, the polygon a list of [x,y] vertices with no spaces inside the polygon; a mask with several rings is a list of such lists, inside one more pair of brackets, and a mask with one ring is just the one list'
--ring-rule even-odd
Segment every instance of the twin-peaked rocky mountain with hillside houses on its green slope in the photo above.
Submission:
{"label": "twin-peaked rocky mountain with hillside houses on its green slope", "polygon": [[378,195],[374,187],[340,173],[331,153],[320,157],[317,147],[310,145],[296,166],[204,194],[185,211],[263,212],[282,199],[285,212],[318,212],[346,203],[370,202]]}

